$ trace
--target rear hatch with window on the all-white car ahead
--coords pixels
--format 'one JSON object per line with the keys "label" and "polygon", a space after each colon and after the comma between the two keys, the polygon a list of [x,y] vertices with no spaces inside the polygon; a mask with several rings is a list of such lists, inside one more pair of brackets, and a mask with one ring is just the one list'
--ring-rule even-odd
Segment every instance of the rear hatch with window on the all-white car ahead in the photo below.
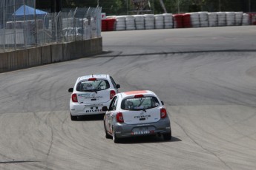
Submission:
{"label": "rear hatch with window on the all-white car ahead", "polygon": [[77,100],[81,104],[105,103],[110,100],[110,85],[104,79],[80,81],[76,86]]}

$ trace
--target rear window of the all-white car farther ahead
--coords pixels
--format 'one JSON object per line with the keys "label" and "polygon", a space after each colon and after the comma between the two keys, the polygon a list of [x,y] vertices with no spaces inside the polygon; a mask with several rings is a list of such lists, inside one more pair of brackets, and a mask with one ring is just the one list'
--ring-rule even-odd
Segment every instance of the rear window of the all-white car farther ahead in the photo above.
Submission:
{"label": "rear window of the all-white car farther ahead", "polygon": [[96,81],[80,81],[76,86],[76,91],[79,92],[95,92],[110,87],[107,80],[96,80]]}

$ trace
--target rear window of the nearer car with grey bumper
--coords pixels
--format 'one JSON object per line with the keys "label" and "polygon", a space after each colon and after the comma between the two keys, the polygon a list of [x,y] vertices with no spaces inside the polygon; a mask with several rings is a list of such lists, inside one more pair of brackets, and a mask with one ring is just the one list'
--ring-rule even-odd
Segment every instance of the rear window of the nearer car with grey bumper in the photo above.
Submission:
{"label": "rear window of the nearer car with grey bumper", "polygon": [[126,98],[121,103],[121,109],[124,110],[151,109],[157,106],[160,106],[160,103],[154,96],[143,98]]}

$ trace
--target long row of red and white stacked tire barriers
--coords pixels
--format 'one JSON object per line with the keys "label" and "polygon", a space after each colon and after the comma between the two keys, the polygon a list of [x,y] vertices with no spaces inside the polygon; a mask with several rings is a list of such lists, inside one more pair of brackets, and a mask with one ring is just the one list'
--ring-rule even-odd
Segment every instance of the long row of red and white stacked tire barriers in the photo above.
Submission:
{"label": "long row of red and white stacked tire barriers", "polygon": [[256,13],[217,12],[184,14],[144,14],[133,16],[109,16],[102,20],[102,31],[153,30],[188,27],[224,27],[256,25]]}

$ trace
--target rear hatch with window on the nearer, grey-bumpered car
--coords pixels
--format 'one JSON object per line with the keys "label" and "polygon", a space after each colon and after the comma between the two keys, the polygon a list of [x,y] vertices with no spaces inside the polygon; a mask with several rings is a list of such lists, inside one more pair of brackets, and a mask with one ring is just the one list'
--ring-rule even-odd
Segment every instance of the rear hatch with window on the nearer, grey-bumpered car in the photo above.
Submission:
{"label": "rear hatch with window on the nearer, grey-bumpered car", "polygon": [[154,96],[135,95],[125,98],[122,100],[121,109],[127,124],[154,123],[160,120],[161,107]]}

